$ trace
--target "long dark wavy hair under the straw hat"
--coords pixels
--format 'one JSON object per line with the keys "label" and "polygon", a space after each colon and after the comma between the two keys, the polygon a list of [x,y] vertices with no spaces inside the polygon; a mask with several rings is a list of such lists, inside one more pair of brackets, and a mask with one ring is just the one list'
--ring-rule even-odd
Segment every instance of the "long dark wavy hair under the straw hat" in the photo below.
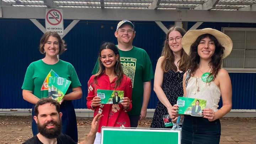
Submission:
{"label": "long dark wavy hair under the straw hat", "polygon": [[186,79],[186,82],[190,79],[191,76],[194,76],[194,74],[196,73],[196,70],[199,68],[200,56],[198,55],[197,47],[198,47],[200,41],[203,38],[207,38],[207,37],[210,40],[212,40],[215,44],[215,51],[214,51],[214,54],[212,55],[212,60],[208,64],[210,67],[212,67],[212,69],[210,70],[210,74],[209,74],[209,76],[211,76],[211,75],[213,76],[213,79],[211,81],[214,81],[214,79],[216,78],[216,76],[220,70],[220,66],[222,64],[222,55],[223,55],[225,48],[220,45],[217,38],[215,38],[212,34],[208,34],[208,33],[202,34],[191,45],[190,55],[188,58],[189,60],[188,60],[188,65],[187,65],[187,70],[189,70],[189,76]]}

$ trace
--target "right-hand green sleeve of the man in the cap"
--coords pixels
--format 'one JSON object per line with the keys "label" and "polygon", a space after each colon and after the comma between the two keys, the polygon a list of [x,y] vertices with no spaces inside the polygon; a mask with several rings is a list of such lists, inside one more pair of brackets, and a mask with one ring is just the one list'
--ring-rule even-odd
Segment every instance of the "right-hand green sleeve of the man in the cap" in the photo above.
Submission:
{"label": "right-hand green sleeve of the man in the cap", "polygon": [[154,78],[153,68],[148,54],[145,52],[145,63],[142,75],[142,81],[150,81]]}

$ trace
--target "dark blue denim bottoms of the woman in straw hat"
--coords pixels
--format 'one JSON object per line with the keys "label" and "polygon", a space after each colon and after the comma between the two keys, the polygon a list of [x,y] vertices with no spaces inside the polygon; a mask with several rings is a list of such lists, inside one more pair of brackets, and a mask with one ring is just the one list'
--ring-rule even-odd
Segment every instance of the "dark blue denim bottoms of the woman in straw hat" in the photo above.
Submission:
{"label": "dark blue denim bottoms of the woman in straw hat", "polygon": [[210,122],[203,117],[185,115],[181,130],[181,144],[219,144],[220,120]]}

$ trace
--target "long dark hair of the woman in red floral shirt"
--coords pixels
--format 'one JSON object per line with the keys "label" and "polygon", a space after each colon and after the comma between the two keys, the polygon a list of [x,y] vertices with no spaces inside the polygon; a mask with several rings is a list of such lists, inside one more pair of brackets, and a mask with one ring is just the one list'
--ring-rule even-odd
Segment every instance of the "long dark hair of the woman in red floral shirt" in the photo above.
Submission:
{"label": "long dark hair of the woman in red floral shirt", "polygon": [[121,84],[121,81],[123,79],[123,69],[122,69],[122,66],[121,66],[121,63],[120,63],[120,54],[119,54],[119,51],[116,47],[116,45],[114,45],[113,43],[111,42],[105,42],[101,45],[100,47],[100,50],[98,52],[98,72],[95,74],[94,76],[94,83],[96,85],[98,85],[98,82],[97,82],[97,77],[102,75],[103,74],[103,71],[105,70],[105,66],[101,63],[101,60],[100,60],[100,57],[101,57],[101,51],[103,49],[111,49],[113,50],[114,54],[117,56],[119,55],[118,59],[117,59],[117,62],[115,63],[114,65],[114,73],[117,75],[117,79],[116,79],[116,85],[115,85],[115,88],[118,87],[120,84]]}

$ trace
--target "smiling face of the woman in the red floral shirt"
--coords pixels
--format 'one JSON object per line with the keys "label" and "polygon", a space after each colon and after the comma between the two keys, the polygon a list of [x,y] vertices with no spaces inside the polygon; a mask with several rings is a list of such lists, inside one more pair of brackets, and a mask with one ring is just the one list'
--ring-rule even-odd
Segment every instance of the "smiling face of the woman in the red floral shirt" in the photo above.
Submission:
{"label": "smiling face of the woman in the red floral shirt", "polygon": [[100,60],[105,68],[113,68],[118,57],[119,55],[115,55],[113,50],[106,48],[101,51]]}

